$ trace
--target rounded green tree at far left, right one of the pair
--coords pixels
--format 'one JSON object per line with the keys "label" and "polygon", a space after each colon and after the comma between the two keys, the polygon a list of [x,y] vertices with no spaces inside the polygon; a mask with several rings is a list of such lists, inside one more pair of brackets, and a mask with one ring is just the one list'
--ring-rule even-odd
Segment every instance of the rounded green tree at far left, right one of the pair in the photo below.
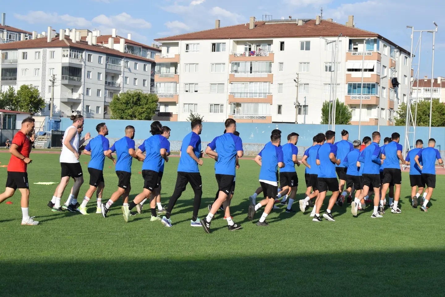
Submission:
{"label": "rounded green tree at far left, right one of the pair", "polygon": [[36,114],[45,107],[45,101],[40,96],[39,90],[32,85],[21,85],[12,102],[11,110]]}

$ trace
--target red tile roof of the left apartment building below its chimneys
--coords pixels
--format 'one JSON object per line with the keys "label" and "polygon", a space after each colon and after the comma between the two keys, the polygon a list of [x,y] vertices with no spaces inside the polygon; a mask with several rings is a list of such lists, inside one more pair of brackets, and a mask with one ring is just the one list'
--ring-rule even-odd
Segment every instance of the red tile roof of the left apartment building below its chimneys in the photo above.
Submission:
{"label": "red tile roof of the left apartment building below its chimneys", "polygon": [[40,48],[59,48],[59,47],[87,49],[90,51],[110,54],[113,56],[128,57],[142,61],[154,62],[153,59],[132,55],[130,53],[121,53],[117,49],[109,49],[101,45],[89,45],[86,41],[83,40],[74,43],[68,36],[65,36],[65,39],[63,40],[59,40],[59,37],[55,37],[51,40],[51,42],[47,42],[46,37],[42,37],[25,41],[9,42],[0,45],[0,49],[40,49]]}

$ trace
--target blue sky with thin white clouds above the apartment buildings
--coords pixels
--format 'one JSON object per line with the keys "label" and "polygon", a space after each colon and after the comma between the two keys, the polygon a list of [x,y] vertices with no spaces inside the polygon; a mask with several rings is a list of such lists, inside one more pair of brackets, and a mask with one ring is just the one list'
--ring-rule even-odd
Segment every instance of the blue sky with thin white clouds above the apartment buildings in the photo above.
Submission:
{"label": "blue sky with thin white clouds above the apartment buildings", "polygon": [[[6,24],[27,31],[46,31],[52,26],[60,28],[100,29],[110,34],[117,28],[117,34],[151,45],[154,38],[180,33],[210,29],[214,20],[221,20],[221,26],[249,21],[250,16],[261,20],[262,15],[274,19],[315,18],[323,7],[323,18],[333,18],[344,24],[348,15],[354,15],[356,27],[363,28],[410,48],[410,31],[433,29],[433,21],[439,25],[436,34],[435,77],[445,76],[445,23],[441,16],[445,1],[441,0],[77,0],[3,1],[1,12],[6,12]],[[422,60],[420,75],[431,76],[432,34],[424,33],[422,39]],[[417,41],[417,39],[416,39]]]}

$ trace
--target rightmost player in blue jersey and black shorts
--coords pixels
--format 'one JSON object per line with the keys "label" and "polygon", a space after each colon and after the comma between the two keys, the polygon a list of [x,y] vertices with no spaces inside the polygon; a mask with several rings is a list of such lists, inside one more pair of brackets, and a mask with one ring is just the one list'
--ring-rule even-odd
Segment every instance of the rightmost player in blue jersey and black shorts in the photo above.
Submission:
{"label": "rightmost player in blue jersey and black shorts", "polygon": [[429,138],[428,147],[418,151],[416,157],[414,158],[417,166],[422,171],[422,181],[428,187],[428,194],[426,195],[425,201],[420,208],[424,212],[428,211],[428,207],[426,206],[428,205],[431,195],[433,195],[433,190],[436,187],[436,159],[439,161],[439,164],[443,163],[441,154],[434,148],[434,146],[436,146],[436,140],[434,138]]}

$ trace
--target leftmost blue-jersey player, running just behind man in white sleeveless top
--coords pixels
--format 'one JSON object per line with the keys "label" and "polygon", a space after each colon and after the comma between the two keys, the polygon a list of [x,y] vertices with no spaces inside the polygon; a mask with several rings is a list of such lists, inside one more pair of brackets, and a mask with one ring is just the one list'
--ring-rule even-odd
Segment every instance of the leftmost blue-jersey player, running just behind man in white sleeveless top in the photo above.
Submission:
{"label": "leftmost blue-jersey player, running just behind man in white sleeveless top", "polygon": [[[85,146],[85,155],[91,155],[91,160],[88,163],[88,172],[89,172],[89,189],[85,193],[85,198],[78,208],[79,212],[82,215],[88,215],[86,205],[93,196],[94,192],[97,190],[97,208],[96,213],[101,212],[101,204],[102,204],[102,193],[105,187],[104,182],[104,162],[105,162],[105,153],[109,150],[109,141],[105,138],[108,135],[108,128],[105,123],[97,124],[96,131],[99,135],[95,138],[91,139],[87,146]],[[116,159],[114,159],[111,155],[107,155],[109,159],[116,164]]]}

